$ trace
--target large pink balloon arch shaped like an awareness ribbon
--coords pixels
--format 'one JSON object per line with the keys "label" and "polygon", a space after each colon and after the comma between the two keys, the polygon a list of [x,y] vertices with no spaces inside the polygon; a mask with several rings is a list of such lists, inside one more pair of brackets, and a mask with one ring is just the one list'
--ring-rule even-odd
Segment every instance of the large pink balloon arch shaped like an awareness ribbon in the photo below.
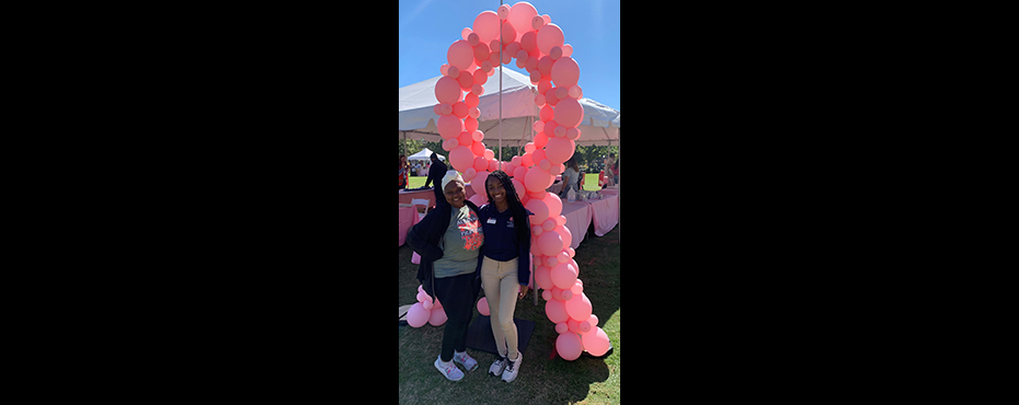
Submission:
{"label": "large pink balloon arch shaped like an awareness ribbon", "polygon": [[[434,111],[439,116],[436,127],[444,139],[443,149],[449,152],[449,163],[462,173],[466,182],[481,180],[472,186],[483,187],[484,178],[502,163],[524,207],[534,212],[530,222],[535,284],[545,290],[541,297],[547,301],[546,315],[560,334],[557,351],[566,360],[575,360],[582,351],[602,356],[610,346],[608,336],[598,327],[584,284],[577,278],[580,266],[570,247],[573,235],[564,227],[562,200],[546,193],[556,175],[565,170],[563,162],[573,155],[575,140],[581,137],[577,126],[584,118],[584,108],[579,100],[584,93],[577,85],[580,66],[570,57],[573,47],[564,44],[562,30],[548,14],[538,15],[537,9],[526,1],[483,11],[460,34],[462,39],[449,45],[448,63],[439,68],[443,77],[435,83],[438,103]],[[481,116],[478,104],[484,94],[482,84],[495,74],[496,67],[514,58],[517,67],[527,69],[531,84],[538,88],[535,104],[540,107],[540,120],[535,120],[534,141],[524,147],[524,155],[499,162],[495,152],[485,148],[484,132],[478,129]],[[484,189],[474,192],[471,201],[484,204]],[[440,325],[446,321],[445,313],[438,317],[434,314],[442,306],[422,296],[427,297],[419,293],[420,302],[414,306],[420,308],[411,308],[414,320],[410,322],[409,312],[409,323],[414,327],[426,322]]]}

